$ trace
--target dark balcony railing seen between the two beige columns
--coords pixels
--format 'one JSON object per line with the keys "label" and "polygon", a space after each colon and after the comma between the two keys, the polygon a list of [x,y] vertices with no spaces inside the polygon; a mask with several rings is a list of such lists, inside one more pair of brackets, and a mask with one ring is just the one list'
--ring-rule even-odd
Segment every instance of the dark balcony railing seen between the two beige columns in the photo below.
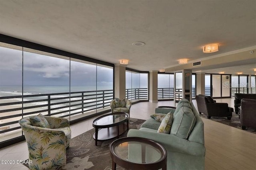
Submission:
{"label": "dark balcony railing seen between the two beige columns", "polygon": [[126,98],[129,100],[148,100],[148,88],[127,88]]}

